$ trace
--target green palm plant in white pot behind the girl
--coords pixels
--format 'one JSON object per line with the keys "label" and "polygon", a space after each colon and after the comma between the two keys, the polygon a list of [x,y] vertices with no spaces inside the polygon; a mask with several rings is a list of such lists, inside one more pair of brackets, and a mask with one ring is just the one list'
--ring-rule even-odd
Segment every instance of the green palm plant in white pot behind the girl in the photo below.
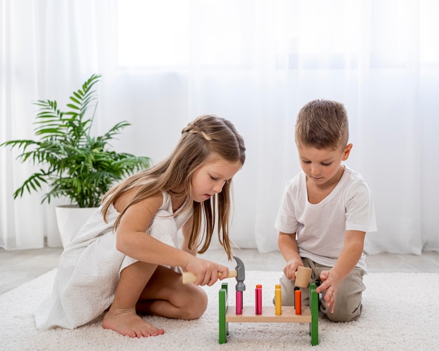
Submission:
{"label": "green palm plant in white pot behind the girl", "polygon": [[[90,134],[97,107],[97,95],[93,89],[100,77],[93,74],[73,92],[67,111],[60,111],[55,100],[34,102],[39,106],[34,128],[38,139],[18,139],[0,144],[20,149],[18,160],[22,163],[32,162],[41,167],[13,193],[14,198],[21,197],[25,191],[39,191],[42,184],[47,184],[48,192],[41,202],[67,198],[69,205],[66,207],[77,209],[76,212],[88,209],[82,210],[87,211],[83,215],[85,219],[74,219],[73,224],[68,224],[58,217],[65,207],[56,207],[63,246],[90,216],[90,209],[93,211],[100,205],[102,195],[115,182],[151,164],[148,157],[118,153],[110,148],[109,142],[130,125],[127,121],[116,123],[104,135],[94,137]],[[71,215],[67,216],[71,218]],[[63,233],[64,229],[68,233]]]}

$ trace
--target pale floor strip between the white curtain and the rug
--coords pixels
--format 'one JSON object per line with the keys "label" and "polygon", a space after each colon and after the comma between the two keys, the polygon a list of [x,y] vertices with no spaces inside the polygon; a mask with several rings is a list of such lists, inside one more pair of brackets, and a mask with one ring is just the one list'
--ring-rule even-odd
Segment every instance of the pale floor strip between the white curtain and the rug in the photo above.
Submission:
{"label": "pale floor strip between the white curtain and the rug", "polygon": [[[14,289],[58,266],[61,248],[6,251],[0,248],[0,294]],[[236,250],[235,255],[246,270],[283,270],[284,261],[279,252],[259,254],[256,249]],[[227,261],[222,250],[212,249],[202,255],[234,269],[236,262]],[[373,272],[435,272],[439,273],[439,252],[424,252],[421,256],[377,254],[367,256],[367,267]]]}

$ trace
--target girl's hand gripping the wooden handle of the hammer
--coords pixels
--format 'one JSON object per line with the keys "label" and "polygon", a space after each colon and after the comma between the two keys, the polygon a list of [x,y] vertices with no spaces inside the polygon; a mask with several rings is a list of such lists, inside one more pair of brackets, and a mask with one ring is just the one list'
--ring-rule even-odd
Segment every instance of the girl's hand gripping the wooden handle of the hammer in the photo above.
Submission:
{"label": "girl's hand gripping the wooden handle of the hammer", "polygon": [[226,266],[221,266],[215,262],[198,259],[196,257],[187,263],[185,270],[196,275],[194,284],[201,286],[208,285],[209,287],[215,284],[218,278],[222,280],[229,274],[229,268]]}

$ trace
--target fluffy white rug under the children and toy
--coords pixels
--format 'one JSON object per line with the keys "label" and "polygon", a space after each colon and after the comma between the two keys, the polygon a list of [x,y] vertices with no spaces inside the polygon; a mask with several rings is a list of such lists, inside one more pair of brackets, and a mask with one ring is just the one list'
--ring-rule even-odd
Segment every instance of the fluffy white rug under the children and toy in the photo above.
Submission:
{"label": "fluffy white rug under the children and toy", "polygon": [[[244,305],[255,305],[255,284],[271,305],[279,272],[245,273]],[[196,321],[146,317],[163,336],[133,339],[102,329],[97,319],[76,330],[38,331],[32,312],[49,294],[55,270],[0,296],[0,350],[439,350],[439,273],[371,273],[365,276],[363,315],[355,322],[319,318],[319,345],[311,347],[309,324],[229,323],[218,343],[218,290],[206,287],[209,307]],[[229,282],[235,305],[236,280]]]}

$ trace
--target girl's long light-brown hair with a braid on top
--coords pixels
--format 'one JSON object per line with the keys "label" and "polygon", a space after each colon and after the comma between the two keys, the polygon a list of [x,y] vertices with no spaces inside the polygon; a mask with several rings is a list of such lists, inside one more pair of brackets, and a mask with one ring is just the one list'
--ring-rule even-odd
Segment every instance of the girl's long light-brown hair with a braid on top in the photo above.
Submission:
{"label": "girl's long light-brown hair with a braid on top", "polygon": [[[193,221],[188,248],[197,247],[202,254],[210,246],[215,223],[218,226],[220,245],[231,260],[231,240],[229,239],[229,216],[231,212],[231,181],[227,181],[221,193],[204,202],[196,202],[192,198],[191,179],[199,167],[214,158],[220,158],[231,163],[245,162],[245,145],[234,125],[224,118],[206,115],[196,118],[182,130],[180,141],[168,158],[161,163],[143,170],[111,188],[102,198],[102,215],[107,219],[109,206],[124,192],[137,187],[137,191],[114,223],[118,228],[121,216],[128,207],[149,198],[162,191],[171,191],[183,186],[181,193],[189,197],[187,205],[177,211],[177,214],[192,207]],[[212,201],[211,201],[212,200]],[[198,238],[204,219],[204,234]],[[201,248],[200,248],[201,247]]]}

